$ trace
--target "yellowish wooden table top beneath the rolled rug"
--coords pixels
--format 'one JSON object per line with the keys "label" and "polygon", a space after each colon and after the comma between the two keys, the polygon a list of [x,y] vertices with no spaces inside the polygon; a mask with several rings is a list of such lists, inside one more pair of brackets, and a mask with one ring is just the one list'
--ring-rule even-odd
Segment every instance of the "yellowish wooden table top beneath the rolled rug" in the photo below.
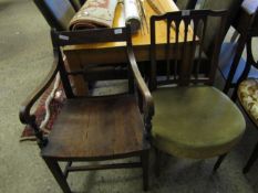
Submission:
{"label": "yellowish wooden table top beneath the rolled rug", "polygon": [[[156,0],[159,8],[164,12],[172,12],[172,11],[178,11],[178,8],[172,0]],[[156,14],[155,11],[151,8],[148,2],[146,0],[143,1],[145,12],[146,12],[146,20],[147,20],[147,25],[149,26],[149,18],[153,14]],[[125,19],[124,19],[124,11],[123,11],[123,3],[118,3],[116,6],[115,10],[115,17],[113,21],[113,28],[120,28],[125,25]],[[145,22],[143,22],[144,25]],[[164,21],[161,21],[157,23],[156,29],[166,29],[165,25],[166,23]],[[148,28],[147,26],[147,28]],[[143,28],[143,26],[142,26]],[[173,34],[174,33],[174,34]],[[173,40],[175,37],[175,32],[172,30],[172,40],[171,42],[175,42]],[[184,37],[183,35],[179,35],[179,42],[183,42]],[[135,34],[132,35],[132,42],[133,46],[144,46],[144,45],[149,45],[151,44],[151,37],[149,37],[149,28],[146,30],[146,26],[144,26],[144,30],[138,30]],[[156,43],[157,44],[165,44],[166,43],[166,30],[158,30],[156,32]],[[83,45],[70,45],[64,47],[64,51],[71,51],[71,50],[85,50],[85,49],[109,49],[109,47],[120,47],[124,46],[124,42],[114,42],[114,43],[97,43],[97,44],[83,44]]]}

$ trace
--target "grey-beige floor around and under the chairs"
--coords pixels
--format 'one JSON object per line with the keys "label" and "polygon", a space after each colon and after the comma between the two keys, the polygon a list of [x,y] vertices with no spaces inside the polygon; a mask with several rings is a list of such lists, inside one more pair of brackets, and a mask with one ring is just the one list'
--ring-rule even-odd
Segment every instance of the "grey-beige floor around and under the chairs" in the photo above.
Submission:
{"label": "grey-beige floor around and under the chairs", "polygon": [[[61,192],[37,144],[19,142],[23,128],[18,118],[20,104],[50,69],[49,26],[32,0],[0,0],[0,192]],[[216,159],[164,156],[161,178],[151,170],[149,192],[258,193],[258,163],[248,174],[241,173],[257,137],[257,130],[248,122],[244,139],[215,174],[211,169]],[[78,173],[71,174],[69,183],[76,192],[135,193],[142,192],[142,172],[133,169]]]}

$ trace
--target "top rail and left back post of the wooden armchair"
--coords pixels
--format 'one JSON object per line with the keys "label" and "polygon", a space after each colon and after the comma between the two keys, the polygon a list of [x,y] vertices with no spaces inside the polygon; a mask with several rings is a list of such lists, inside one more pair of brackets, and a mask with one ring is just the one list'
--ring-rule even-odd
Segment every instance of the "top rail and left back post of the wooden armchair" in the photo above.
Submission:
{"label": "top rail and left back post of the wooden armchair", "polygon": [[[132,49],[130,25],[117,29],[95,29],[95,30],[81,30],[81,31],[51,31],[52,44],[54,51],[58,52],[59,58],[62,56],[62,47],[69,45],[79,44],[92,44],[92,43],[104,43],[104,42],[126,42],[127,46]],[[59,71],[63,83],[64,92],[68,98],[75,97],[70,77],[72,76],[85,76],[86,68],[81,67],[79,71],[68,71],[65,68],[63,60],[59,60]],[[130,82],[132,85],[132,81]],[[132,88],[132,86],[131,86]],[[131,89],[132,93],[132,89]]]}

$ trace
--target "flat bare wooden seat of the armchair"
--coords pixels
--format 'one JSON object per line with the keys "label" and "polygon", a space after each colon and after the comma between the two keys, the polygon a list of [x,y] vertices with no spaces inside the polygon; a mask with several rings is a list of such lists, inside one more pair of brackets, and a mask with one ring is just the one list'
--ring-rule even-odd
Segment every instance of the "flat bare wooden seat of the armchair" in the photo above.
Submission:
{"label": "flat bare wooden seat of the armchair", "polygon": [[[123,115],[123,118],[121,118]],[[100,160],[148,150],[135,97],[69,99],[53,125],[43,158]]]}

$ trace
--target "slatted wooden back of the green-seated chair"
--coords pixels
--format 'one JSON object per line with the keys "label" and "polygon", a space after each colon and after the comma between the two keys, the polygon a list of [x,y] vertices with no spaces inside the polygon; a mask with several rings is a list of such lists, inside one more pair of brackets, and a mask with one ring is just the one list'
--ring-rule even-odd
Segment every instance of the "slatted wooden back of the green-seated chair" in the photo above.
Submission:
{"label": "slatted wooden back of the green-seated chair", "polygon": [[[187,86],[190,84],[211,85],[218,64],[226,15],[226,11],[210,10],[187,10],[171,12],[163,15],[153,15],[151,18],[151,89],[155,89],[157,85],[166,84],[177,84],[179,86]],[[204,53],[203,47],[206,37],[208,17],[218,19],[220,28],[216,33],[213,49],[209,53],[205,53],[210,58],[208,72],[200,73],[200,57]],[[166,22],[166,77],[163,77],[162,81],[157,79],[156,75],[157,44],[155,33],[155,23],[161,21]],[[171,36],[173,31],[175,33],[175,39]],[[174,61],[171,60],[172,54],[176,55]]]}

